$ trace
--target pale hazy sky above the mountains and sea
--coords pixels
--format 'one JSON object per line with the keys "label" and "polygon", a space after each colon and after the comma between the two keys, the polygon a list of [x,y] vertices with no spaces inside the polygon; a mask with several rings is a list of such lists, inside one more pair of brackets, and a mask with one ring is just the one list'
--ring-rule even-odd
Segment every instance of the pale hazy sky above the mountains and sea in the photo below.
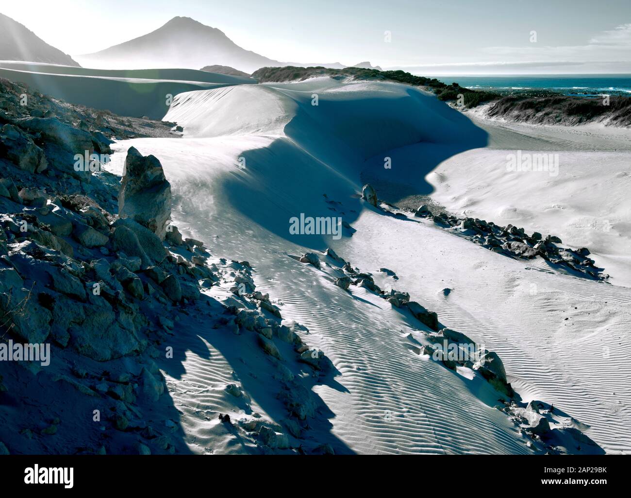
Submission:
{"label": "pale hazy sky above the mountains and sea", "polygon": [[5,0],[0,12],[71,56],[188,16],[279,61],[427,75],[631,73],[631,0]]}

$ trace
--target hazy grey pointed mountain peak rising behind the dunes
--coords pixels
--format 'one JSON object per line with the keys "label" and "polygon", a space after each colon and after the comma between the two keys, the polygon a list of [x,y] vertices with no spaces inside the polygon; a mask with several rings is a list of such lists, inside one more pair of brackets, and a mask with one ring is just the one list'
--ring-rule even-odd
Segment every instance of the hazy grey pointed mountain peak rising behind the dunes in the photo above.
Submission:
{"label": "hazy grey pointed mountain peak rising behind the dunes", "polygon": [[101,69],[199,69],[218,64],[252,73],[263,66],[280,65],[242,49],[217,28],[189,17],[174,17],[147,35],[76,58],[83,65]]}

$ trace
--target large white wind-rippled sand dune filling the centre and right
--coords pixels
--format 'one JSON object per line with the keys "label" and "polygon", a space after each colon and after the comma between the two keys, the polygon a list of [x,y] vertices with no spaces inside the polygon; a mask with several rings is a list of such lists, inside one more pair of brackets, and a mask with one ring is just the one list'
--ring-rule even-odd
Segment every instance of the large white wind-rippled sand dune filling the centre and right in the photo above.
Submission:
{"label": "large white wind-rippled sand dune filling the centre and right", "polygon": [[[331,358],[339,374],[312,389],[330,412],[330,425],[316,430],[323,440],[334,437],[336,451],[531,449],[509,418],[493,408],[498,393],[487,382],[413,353],[423,331],[418,323],[365,289],[346,293],[334,286],[333,267],[317,270],[291,257],[326,246],[374,272],[382,288],[410,292],[436,310],[442,324],[497,351],[526,401],[553,403],[574,417],[561,417],[560,423],[581,428],[608,452],[631,449],[625,411],[631,396],[625,366],[631,291],[616,285],[626,278],[628,262],[616,252],[620,246],[608,253],[609,239],[598,230],[566,227],[579,212],[574,200],[579,195],[592,199],[584,207],[597,216],[593,200],[601,193],[586,191],[594,168],[606,159],[605,171],[613,174],[625,156],[564,155],[567,168],[559,178],[578,183],[561,201],[567,214],[557,217],[534,209],[547,206],[552,195],[564,195],[553,185],[516,181],[505,170],[500,174],[507,151],[486,148],[497,140],[495,132],[404,85],[317,78],[210,88],[178,95],[165,119],[184,126],[184,138],[129,140],[115,149],[133,145],[160,158],[175,195],[176,224],[216,257],[251,261],[258,288],[277,300],[283,317],[306,325],[309,342]],[[513,145],[526,149],[525,143]],[[122,157],[114,155],[114,169],[122,166]],[[385,157],[392,159],[389,170]],[[562,234],[570,244],[579,244],[582,235],[588,240],[581,245],[593,245],[595,257],[611,267],[612,284],[553,274],[540,262],[503,257],[411,216],[384,216],[358,199],[360,175],[366,173],[398,186],[399,198],[431,195],[450,209],[476,210],[498,223],[517,214],[529,229]],[[624,212],[623,186],[614,184],[608,184],[613,190],[607,209]],[[345,232],[338,241],[291,235],[288,221],[301,212],[340,216],[357,232]],[[620,224],[616,230],[623,243],[628,228]],[[608,257],[617,257],[619,265],[610,265]],[[398,281],[379,276],[380,267],[396,271]],[[181,333],[182,341],[199,336],[213,351],[212,360],[187,356],[184,382],[174,378],[171,384],[182,423],[192,434],[189,446],[196,452],[209,446],[247,451],[230,446],[203,414],[206,405],[240,417],[239,406],[227,406],[212,392],[213,382],[227,382],[233,353],[209,325],[183,327]],[[251,384],[249,395],[263,415],[276,420],[276,405],[265,394],[266,375]]]}

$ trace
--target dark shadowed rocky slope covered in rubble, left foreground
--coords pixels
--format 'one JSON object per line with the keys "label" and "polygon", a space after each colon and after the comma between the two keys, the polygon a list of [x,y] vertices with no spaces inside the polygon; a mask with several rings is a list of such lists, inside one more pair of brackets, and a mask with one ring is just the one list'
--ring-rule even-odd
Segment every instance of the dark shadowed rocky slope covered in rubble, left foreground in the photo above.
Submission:
{"label": "dark shadowed rocky slope covered in rubble, left foreground", "polygon": [[[189,452],[156,362],[174,357],[177,323],[194,315],[225,334],[254,333],[286,406],[283,427],[220,414],[226,430],[257,452],[333,452],[304,441],[317,397],[285,366],[302,362],[314,379],[330,368],[298,336],[307,329],[283,323],[249,263],[213,259],[170,224],[170,184],[156,157],[130,149],[120,185],[102,168],[105,133],[138,136],[127,120],[6,81],[2,90],[0,336],[51,349],[47,363],[0,361],[1,451]],[[16,107],[21,92],[32,98]],[[78,151],[86,168],[73,164]],[[208,296],[220,287],[225,299]],[[225,395],[247,403],[235,383]]]}

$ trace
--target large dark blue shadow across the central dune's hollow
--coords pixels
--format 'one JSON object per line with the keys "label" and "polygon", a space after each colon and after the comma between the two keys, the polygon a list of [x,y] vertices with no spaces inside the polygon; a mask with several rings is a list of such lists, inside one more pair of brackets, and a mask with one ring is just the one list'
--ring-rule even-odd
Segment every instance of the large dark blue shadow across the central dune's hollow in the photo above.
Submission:
{"label": "large dark blue shadow across the central dune's hollow", "polygon": [[262,228],[311,249],[329,246],[331,233],[292,234],[292,217],[302,213],[352,225],[362,209],[370,209],[357,195],[363,183],[393,204],[429,195],[428,173],[449,157],[488,143],[487,132],[464,114],[413,88],[396,98],[322,95],[318,106],[304,96],[295,99],[286,137],[244,151],[245,174],[251,178],[229,176],[225,197]]}

